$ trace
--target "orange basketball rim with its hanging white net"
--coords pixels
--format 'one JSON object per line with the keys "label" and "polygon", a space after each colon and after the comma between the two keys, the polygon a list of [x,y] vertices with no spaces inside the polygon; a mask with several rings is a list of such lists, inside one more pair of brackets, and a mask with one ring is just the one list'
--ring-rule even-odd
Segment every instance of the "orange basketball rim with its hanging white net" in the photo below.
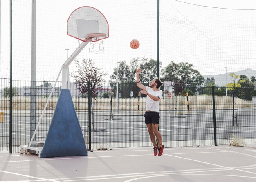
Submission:
{"label": "orange basketball rim with its hanging white net", "polygon": [[104,53],[103,39],[106,33],[88,33],[85,37],[86,42],[90,42],[89,53]]}

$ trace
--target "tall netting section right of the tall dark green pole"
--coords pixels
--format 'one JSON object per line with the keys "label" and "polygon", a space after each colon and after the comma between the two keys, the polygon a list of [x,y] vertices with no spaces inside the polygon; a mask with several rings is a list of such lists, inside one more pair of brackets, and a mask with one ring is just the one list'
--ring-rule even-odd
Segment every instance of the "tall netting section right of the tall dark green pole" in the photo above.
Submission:
{"label": "tall netting section right of the tall dark green pole", "polygon": [[[165,80],[198,86],[214,75],[221,87],[234,81],[230,73],[255,77],[255,10],[164,1],[160,13],[160,60]],[[249,82],[245,85],[251,87]]]}

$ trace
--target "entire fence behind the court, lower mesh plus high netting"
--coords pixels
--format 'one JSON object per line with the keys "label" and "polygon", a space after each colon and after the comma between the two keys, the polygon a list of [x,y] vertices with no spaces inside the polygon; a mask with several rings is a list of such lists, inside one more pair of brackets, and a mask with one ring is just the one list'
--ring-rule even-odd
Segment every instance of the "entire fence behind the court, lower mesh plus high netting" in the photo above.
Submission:
{"label": "entire fence behind the court, lower mesh plus high netting", "polygon": [[[9,9],[7,2],[1,2],[1,9]],[[91,6],[101,11],[109,24],[109,38],[103,40],[105,52],[89,53],[89,46],[86,46],[76,57],[80,63],[92,59],[105,74],[100,92],[92,101],[93,148],[149,146],[143,121],[145,97],[139,94],[135,72],[136,68],[142,68],[140,78],[144,85],[157,76],[157,0],[36,0],[36,45],[33,45],[36,46],[36,61],[33,63],[32,1],[12,2],[12,108],[13,125],[16,125],[13,145],[27,145],[61,66],[79,46],[77,39],[67,35],[67,19],[78,7]],[[219,139],[223,138],[223,143],[229,143],[227,140],[232,137],[253,139],[255,15],[254,9],[160,1],[159,78],[164,82],[160,103],[163,127],[160,129],[165,141],[177,142],[168,143],[166,147],[213,144],[212,86],[215,87]],[[4,116],[0,128],[1,150],[6,151],[9,146],[10,60],[9,22],[4,17],[8,17],[8,12],[1,16],[0,52],[0,112]],[[140,42],[139,48],[130,48],[133,39]],[[29,98],[31,64],[36,64],[34,89],[38,90],[33,122]],[[70,90],[74,91],[74,106],[88,143],[88,98],[74,86],[76,70],[73,61],[69,66],[73,83]],[[61,89],[60,81],[58,79],[56,92],[36,133],[37,141],[43,141],[47,135]]]}

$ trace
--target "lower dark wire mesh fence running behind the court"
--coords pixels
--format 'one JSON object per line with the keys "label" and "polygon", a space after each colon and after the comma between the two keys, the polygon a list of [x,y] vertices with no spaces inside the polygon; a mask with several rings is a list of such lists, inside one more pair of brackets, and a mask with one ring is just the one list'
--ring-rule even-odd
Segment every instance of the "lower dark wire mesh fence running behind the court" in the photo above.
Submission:
{"label": "lower dark wire mesh fence running behind the court", "polygon": [[[13,81],[10,108],[9,80],[1,79],[0,151],[10,151],[12,147],[16,153],[20,145],[28,145],[53,84],[36,82],[36,91],[31,92],[31,81]],[[47,136],[60,85],[57,83],[49,99],[34,141],[44,141]],[[136,83],[119,83],[119,93],[117,83],[102,83],[95,98],[80,94],[76,83],[68,85],[88,149],[152,145],[143,116],[146,96],[140,94]],[[179,93],[163,90],[159,130],[164,145],[187,147],[231,144],[234,141],[239,141],[237,145],[255,143],[256,103],[254,97],[244,98],[254,88],[225,90],[216,87],[186,88]]]}

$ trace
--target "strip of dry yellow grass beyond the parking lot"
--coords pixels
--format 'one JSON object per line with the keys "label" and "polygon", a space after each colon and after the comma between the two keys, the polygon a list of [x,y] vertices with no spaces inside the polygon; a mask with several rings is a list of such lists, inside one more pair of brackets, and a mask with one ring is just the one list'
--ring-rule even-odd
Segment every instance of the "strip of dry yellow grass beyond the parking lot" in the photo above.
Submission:
{"label": "strip of dry yellow grass beyond the parking lot", "polygon": [[[51,98],[47,105],[47,110],[54,110],[58,98]],[[36,98],[36,110],[43,110],[47,98]],[[73,98],[74,106],[79,110],[88,109],[88,98]],[[97,98],[93,99],[94,110],[110,110],[110,99],[109,98]],[[140,98],[140,108],[145,108],[146,98]],[[197,105],[196,105],[197,103]],[[2,98],[0,100],[2,110],[9,110],[9,98]],[[242,99],[236,99],[236,108],[254,107],[252,101],[245,101]],[[112,109],[117,108],[117,99],[112,98]],[[119,110],[136,110],[138,108],[137,98],[119,98]],[[164,97],[160,101],[161,110],[174,110],[174,97]],[[184,96],[177,96],[177,108],[178,110],[187,109],[187,101]],[[211,110],[212,109],[212,96],[189,96],[189,110]],[[216,109],[232,109],[232,97],[216,96],[215,97],[215,108]],[[13,110],[30,110],[30,97],[14,96],[13,97]]]}

